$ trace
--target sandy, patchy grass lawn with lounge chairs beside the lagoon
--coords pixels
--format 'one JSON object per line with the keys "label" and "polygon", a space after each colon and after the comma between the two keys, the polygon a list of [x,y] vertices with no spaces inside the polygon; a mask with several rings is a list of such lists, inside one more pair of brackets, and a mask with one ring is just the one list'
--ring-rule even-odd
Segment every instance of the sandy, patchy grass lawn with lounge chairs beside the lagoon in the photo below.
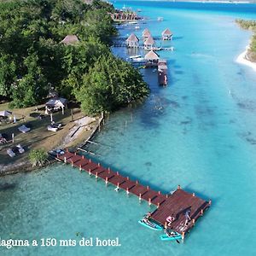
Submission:
{"label": "sandy, patchy grass lawn with lounge chairs beside the lagoon", "polygon": [[[71,116],[71,109],[66,109],[65,114],[61,112],[53,113],[53,119],[55,123],[61,123],[62,127],[59,131],[47,131],[47,125],[50,124],[50,116],[45,115],[44,119],[38,119],[37,115],[44,114],[44,105],[38,106],[38,112],[35,107],[32,108],[17,108],[9,109],[8,103],[0,104],[1,110],[10,110],[17,119],[16,124],[9,122],[7,124],[2,123],[0,125],[0,133],[7,134],[8,139],[11,140],[12,133],[15,134],[15,143],[9,142],[7,144],[0,145],[0,165],[7,165],[9,163],[19,163],[20,160],[24,161],[28,159],[28,152],[33,148],[45,148],[47,151],[57,147],[61,144],[64,137],[67,136],[69,130],[73,127],[73,121]],[[73,108],[73,119],[79,119],[83,117],[83,113],[79,108]],[[27,133],[22,133],[18,130],[20,125],[29,125],[32,130]],[[82,137],[89,136],[90,131],[83,131]],[[83,140],[79,137],[74,143],[79,143]],[[20,144],[25,148],[24,154],[16,154],[14,158],[10,158],[7,154],[7,148],[15,147]],[[70,146],[70,145],[69,145]]]}

